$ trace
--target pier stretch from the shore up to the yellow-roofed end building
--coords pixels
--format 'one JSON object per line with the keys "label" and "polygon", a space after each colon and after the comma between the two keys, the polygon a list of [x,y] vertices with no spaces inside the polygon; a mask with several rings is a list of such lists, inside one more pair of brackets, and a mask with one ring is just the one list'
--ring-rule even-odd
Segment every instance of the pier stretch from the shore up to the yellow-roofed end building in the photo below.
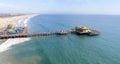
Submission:
{"label": "pier stretch from the shore up to the yellow-roofed end building", "polygon": [[[63,30],[64,32],[72,33],[74,30]],[[24,38],[24,37],[33,37],[33,36],[51,36],[51,35],[58,35],[58,33],[62,33],[61,31],[55,31],[55,32],[33,32],[28,33],[27,29],[25,28],[22,33],[19,34],[4,34],[0,36],[0,39],[9,39],[9,38]]]}

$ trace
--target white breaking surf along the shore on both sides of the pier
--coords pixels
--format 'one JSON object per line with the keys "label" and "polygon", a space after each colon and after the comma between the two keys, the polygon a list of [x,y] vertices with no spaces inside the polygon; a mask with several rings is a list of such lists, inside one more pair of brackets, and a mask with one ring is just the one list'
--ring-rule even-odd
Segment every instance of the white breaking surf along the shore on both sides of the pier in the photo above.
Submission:
{"label": "white breaking surf along the shore on both sides of the pier", "polygon": [[[23,18],[23,19],[19,20],[15,25],[27,27],[27,23],[32,17],[34,17],[34,16]],[[16,44],[20,44],[20,43],[23,43],[23,42],[29,41],[29,40],[30,40],[30,38],[8,39],[6,42],[4,42],[0,45],[0,52],[4,52],[6,50],[9,50],[9,49],[11,49],[11,46],[16,45]]]}

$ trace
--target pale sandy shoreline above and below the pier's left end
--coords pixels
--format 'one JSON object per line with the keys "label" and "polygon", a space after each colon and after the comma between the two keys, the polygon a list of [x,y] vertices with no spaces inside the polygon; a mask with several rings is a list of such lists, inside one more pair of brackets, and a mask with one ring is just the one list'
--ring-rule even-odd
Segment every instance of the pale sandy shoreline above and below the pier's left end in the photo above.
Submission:
{"label": "pale sandy shoreline above and below the pier's left end", "polygon": [[[8,24],[14,25],[24,18],[30,19],[34,16],[36,16],[36,14],[28,14],[28,15],[20,15],[20,16],[18,15],[14,17],[0,17],[0,29],[6,27]],[[0,44],[2,44],[5,41],[6,40],[0,40]]]}

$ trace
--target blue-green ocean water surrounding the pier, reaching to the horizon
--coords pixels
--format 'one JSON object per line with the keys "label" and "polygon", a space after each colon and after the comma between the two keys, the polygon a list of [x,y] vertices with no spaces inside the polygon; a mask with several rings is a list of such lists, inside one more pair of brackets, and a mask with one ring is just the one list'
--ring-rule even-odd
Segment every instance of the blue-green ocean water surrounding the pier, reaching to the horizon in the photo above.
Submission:
{"label": "blue-green ocean water surrounding the pier, reaching to the horizon", "polygon": [[34,16],[27,23],[30,33],[72,29],[80,25],[101,34],[40,36],[17,39],[17,43],[13,39],[0,45],[0,64],[120,64],[119,24],[119,15]]}

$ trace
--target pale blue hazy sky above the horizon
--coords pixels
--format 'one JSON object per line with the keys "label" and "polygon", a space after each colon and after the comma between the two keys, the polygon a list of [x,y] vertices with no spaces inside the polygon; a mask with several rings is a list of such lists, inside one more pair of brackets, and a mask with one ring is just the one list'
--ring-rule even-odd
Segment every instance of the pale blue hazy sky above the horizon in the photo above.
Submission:
{"label": "pale blue hazy sky above the horizon", "polygon": [[120,14],[120,0],[0,0],[0,13]]}

